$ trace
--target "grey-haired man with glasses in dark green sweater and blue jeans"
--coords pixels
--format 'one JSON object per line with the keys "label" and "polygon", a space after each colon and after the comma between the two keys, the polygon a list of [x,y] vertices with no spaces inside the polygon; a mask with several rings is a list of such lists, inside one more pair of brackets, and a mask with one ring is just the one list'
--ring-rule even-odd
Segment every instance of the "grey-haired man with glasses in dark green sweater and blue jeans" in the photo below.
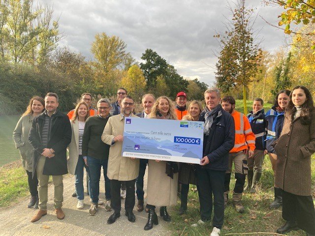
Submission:
{"label": "grey-haired man with glasses in dark green sweater and blue jeans", "polygon": [[86,120],[82,138],[82,156],[85,164],[90,168],[90,196],[92,199],[92,205],[89,210],[90,215],[95,215],[97,213],[98,205],[100,204],[98,201],[98,195],[101,167],[103,167],[103,175],[105,179],[105,210],[112,210],[110,207],[110,180],[106,175],[109,145],[104,144],[101,140],[104,127],[110,117],[110,101],[105,98],[101,98],[97,102],[97,110],[99,113],[97,116],[89,117]]}

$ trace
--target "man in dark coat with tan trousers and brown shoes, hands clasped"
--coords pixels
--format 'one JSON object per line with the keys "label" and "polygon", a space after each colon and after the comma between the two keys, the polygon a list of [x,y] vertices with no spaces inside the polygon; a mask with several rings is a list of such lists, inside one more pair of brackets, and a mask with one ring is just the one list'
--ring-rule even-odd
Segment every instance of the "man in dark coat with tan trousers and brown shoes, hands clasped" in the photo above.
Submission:
{"label": "man in dark coat with tan trousers and brown shoes, hands clasped", "polygon": [[45,111],[32,121],[29,141],[34,148],[33,170],[37,171],[39,210],[31,222],[47,214],[48,180],[53,177],[55,186],[54,207],[58,219],[64,218],[63,175],[67,174],[66,148],[71,142],[69,118],[57,110],[58,95],[45,96]]}

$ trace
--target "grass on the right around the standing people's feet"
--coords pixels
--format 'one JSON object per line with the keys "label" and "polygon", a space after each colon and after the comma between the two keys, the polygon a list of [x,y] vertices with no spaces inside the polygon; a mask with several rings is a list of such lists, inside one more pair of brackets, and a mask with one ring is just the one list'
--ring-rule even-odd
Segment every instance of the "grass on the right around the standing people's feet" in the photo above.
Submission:
{"label": "grass on the right around the standing people's feet", "polygon": [[[312,186],[313,198],[315,197],[315,156],[312,161]],[[230,192],[235,185],[234,174],[231,175]],[[193,186],[190,185],[192,188]],[[260,183],[257,187],[258,191],[255,194],[245,193],[243,195],[243,205],[245,212],[237,213],[232,204],[232,194],[229,194],[229,202],[224,211],[224,224],[221,230],[221,235],[272,235],[276,230],[284,224],[282,219],[282,208],[271,209],[270,203],[274,199],[273,192],[273,171],[269,157],[264,160],[264,170]],[[172,209],[172,223],[169,228],[174,236],[209,236],[212,231],[212,222],[206,223],[198,227],[191,227],[191,224],[196,223],[200,219],[198,192],[189,191],[188,211],[186,214],[179,216],[177,211],[178,205]],[[212,213],[213,217],[213,213]],[[259,234],[259,232],[261,234]],[[265,233],[264,233],[265,232]],[[252,233],[252,234],[248,234]],[[269,233],[269,234],[268,234]],[[305,236],[302,230],[293,231],[287,234],[288,236]]]}

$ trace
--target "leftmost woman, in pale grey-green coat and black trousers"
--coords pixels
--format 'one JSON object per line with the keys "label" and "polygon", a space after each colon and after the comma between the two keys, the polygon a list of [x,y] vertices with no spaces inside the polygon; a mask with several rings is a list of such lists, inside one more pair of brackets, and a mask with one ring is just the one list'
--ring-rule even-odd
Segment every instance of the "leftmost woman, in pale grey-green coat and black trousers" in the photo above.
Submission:
{"label": "leftmost woman, in pale grey-green coat and black trousers", "polygon": [[42,97],[34,96],[31,98],[26,111],[19,119],[13,131],[13,140],[15,147],[20,150],[22,164],[28,175],[29,188],[31,193],[31,200],[28,207],[38,207],[38,192],[37,185],[38,179],[36,173],[33,175],[32,162],[33,162],[33,148],[29,143],[29,133],[32,127],[32,120],[45,110],[45,101]]}

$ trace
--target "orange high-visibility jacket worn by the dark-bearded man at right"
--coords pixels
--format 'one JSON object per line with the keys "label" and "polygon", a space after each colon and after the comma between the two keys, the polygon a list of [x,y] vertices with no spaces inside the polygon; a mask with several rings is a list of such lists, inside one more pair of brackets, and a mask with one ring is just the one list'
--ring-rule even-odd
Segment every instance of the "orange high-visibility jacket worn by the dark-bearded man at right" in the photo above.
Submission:
{"label": "orange high-visibility jacket worn by the dark-bearded man at right", "polygon": [[231,152],[238,152],[242,150],[255,150],[255,134],[252,132],[251,124],[248,118],[238,111],[232,112],[232,117],[235,123],[235,141]]}

